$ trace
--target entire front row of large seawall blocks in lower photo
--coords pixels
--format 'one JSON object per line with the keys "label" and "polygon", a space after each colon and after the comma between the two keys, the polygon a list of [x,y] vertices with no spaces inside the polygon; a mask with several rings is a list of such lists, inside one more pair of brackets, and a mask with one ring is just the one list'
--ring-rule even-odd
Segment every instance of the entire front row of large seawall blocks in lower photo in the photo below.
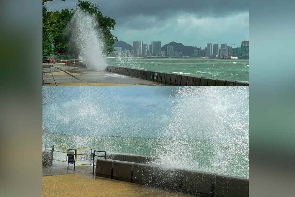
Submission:
{"label": "entire front row of large seawall blocks in lower photo", "polygon": [[249,196],[248,178],[166,168],[154,163],[98,159],[95,173],[96,176],[200,196]]}

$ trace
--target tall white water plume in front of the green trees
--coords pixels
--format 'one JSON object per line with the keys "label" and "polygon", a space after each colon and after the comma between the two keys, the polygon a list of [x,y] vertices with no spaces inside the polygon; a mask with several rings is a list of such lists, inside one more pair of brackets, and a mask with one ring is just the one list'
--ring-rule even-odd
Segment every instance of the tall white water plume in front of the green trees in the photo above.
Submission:
{"label": "tall white water plume in front of the green trees", "polygon": [[95,15],[90,15],[78,7],[67,25],[65,34],[70,35],[69,50],[77,53],[79,60],[86,60],[90,69],[105,70],[107,65],[102,52],[103,34]]}

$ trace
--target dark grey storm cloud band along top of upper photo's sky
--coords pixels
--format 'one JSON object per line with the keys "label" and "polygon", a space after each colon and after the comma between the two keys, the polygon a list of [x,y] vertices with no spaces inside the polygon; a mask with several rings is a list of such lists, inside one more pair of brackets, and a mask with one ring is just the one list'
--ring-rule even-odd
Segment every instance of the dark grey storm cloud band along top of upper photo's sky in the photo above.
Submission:
{"label": "dark grey storm cloud band along top of upper photo's sky", "polygon": [[[51,1],[48,8],[75,8],[77,0]],[[146,29],[154,21],[164,21],[178,14],[193,14],[198,18],[225,17],[249,10],[248,1],[196,1],[196,0],[91,0],[100,7],[104,16],[116,20],[116,26],[124,25],[130,29]],[[154,27],[154,26],[153,26]]]}

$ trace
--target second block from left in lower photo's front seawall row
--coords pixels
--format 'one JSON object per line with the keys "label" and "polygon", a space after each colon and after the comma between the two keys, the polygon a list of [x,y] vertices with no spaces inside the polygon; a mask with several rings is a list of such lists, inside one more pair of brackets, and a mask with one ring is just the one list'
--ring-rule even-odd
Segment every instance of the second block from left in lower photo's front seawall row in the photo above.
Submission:
{"label": "second block from left in lower photo's front seawall row", "polygon": [[134,162],[116,161],[114,162],[113,178],[121,181],[132,181]]}

